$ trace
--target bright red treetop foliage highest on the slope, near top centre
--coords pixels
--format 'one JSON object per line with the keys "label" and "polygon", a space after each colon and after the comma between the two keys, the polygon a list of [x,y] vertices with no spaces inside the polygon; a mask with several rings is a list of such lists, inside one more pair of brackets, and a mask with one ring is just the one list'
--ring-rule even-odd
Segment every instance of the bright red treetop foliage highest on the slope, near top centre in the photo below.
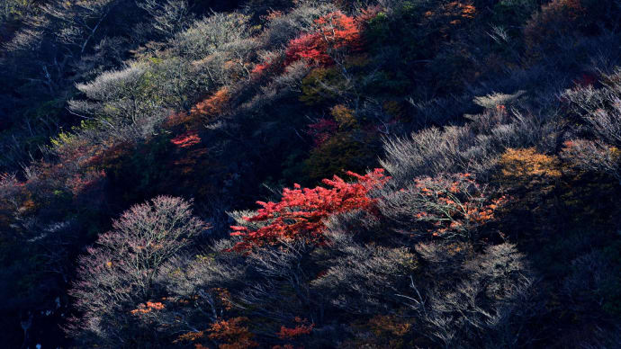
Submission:
{"label": "bright red treetop foliage highest on the slope, near top centre", "polygon": [[329,65],[333,63],[329,55],[330,50],[359,48],[360,28],[353,17],[338,11],[320,17],[315,24],[316,31],[289,42],[285,51],[285,66],[300,59],[307,59],[315,64]]}

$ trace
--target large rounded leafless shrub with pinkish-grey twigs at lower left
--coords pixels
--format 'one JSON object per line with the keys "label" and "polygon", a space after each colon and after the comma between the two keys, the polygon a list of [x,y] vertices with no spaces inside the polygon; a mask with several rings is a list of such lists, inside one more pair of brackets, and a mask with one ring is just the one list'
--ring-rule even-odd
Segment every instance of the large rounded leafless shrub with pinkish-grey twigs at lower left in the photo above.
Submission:
{"label": "large rounded leafless shrub with pinkish-grey twigs at lower left", "polygon": [[78,260],[70,294],[83,315],[69,332],[85,343],[130,345],[139,336],[131,331],[130,310],[157,297],[162,266],[204,228],[190,203],[173,197],[159,196],[123,213]]}

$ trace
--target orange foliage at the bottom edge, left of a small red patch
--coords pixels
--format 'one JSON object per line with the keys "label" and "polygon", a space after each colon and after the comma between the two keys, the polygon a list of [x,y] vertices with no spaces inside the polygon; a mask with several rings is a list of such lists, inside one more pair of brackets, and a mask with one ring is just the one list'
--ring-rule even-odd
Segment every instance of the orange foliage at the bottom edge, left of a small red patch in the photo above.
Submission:
{"label": "orange foliage at the bottom edge, left of a small red patch", "polygon": [[258,346],[253,340],[254,336],[247,327],[242,327],[241,323],[248,318],[238,317],[229,320],[220,320],[213,323],[209,329],[209,337],[218,342],[224,342],[218,347],[220,349],[247,349]]}

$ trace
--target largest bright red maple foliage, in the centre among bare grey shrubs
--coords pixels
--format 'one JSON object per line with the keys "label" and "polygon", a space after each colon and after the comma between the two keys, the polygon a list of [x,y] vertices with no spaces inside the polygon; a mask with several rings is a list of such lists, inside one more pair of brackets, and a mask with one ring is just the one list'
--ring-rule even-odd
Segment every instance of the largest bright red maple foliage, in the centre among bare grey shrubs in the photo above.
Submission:
{"label": "largest bright red maple foliage, in the centre among bare grey shrubs", "polygon": [[247,251],[253,246],[275,245],[280,239],[306,239],[311,243],[322,243],[324,220],[329,216],[349,210],[374,210],[375,199],[367,193],[382,187],[390,177],[383,175],[383,169],[376,168],[368,175],[356,175],[356,183],[346,183],[338,176],[323,183],[330,188],[316,187],[302,189],[295,184],[294,189],[284,189],[280,202],[257,201],[263,208],[248,222],[266,222],[263,228],[250,230],[246,227],[232,226],[231,236],[243,237],[232,250]]}

